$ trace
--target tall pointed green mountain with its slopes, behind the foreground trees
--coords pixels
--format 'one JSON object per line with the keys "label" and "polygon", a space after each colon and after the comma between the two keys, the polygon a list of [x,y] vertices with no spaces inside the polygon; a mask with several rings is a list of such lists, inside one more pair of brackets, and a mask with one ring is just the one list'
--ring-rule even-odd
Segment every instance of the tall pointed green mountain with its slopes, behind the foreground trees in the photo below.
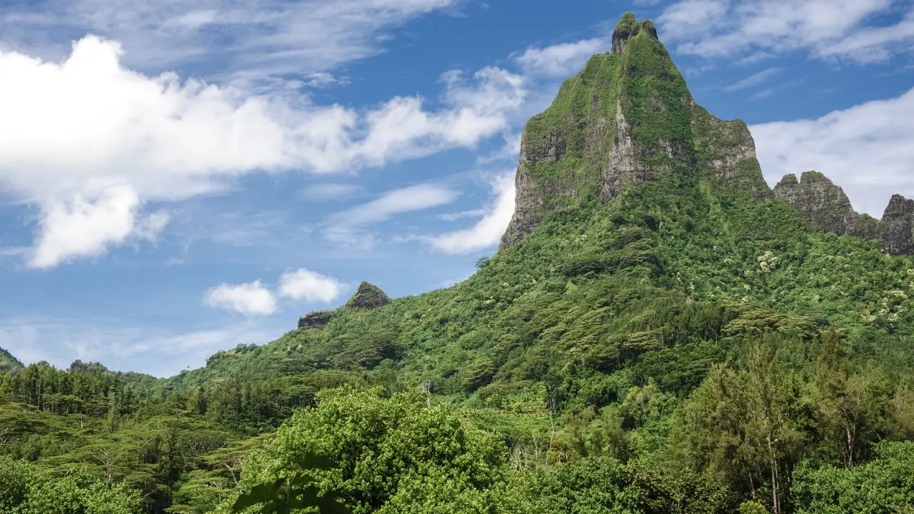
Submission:
{"label": "tall pointed green mountain with its slopes, behind the foreground trees", "polygon": [[[831,324],[909,333],[914,263],[819,230],[774,198],[746,124],[696,105],[649,21],[622,18],[612,52],[527,123],[519,161],[515,217],[470,279],[312,313],[173,385],[239,367],[311,381],[315,371],[331,381],[387,373],[504,406],[539,402],[549,380],[620,369],[685,393],[724,359],[721,341],[741,335],[812,338]],[[692,364],[674,376],[670,362]],[[592,402],[580,387],[564,395]]]}

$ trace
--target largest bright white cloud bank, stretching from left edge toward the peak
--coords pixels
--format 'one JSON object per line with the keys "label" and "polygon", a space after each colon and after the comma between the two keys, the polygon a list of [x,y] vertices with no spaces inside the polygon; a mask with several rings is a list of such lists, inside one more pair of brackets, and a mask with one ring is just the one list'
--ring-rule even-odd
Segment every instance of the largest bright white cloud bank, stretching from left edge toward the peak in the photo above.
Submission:
{"label": "largest bright white cloud bank, stretching from left edge toward the peak", "polygon": [[142,238],[164,227],[149,218],[150,202],[217,191],[242,175],[334,173],[472,147],[503,133],[526,95],[519,76],[485,68],[472,79],[446,74],[438,111],[396,97],[356,112],[174,73],[147,77],[125,68],[122,54],[100,37],[80,39],[59,63],[0,52],[0,184],[39,208],[32,267]]}

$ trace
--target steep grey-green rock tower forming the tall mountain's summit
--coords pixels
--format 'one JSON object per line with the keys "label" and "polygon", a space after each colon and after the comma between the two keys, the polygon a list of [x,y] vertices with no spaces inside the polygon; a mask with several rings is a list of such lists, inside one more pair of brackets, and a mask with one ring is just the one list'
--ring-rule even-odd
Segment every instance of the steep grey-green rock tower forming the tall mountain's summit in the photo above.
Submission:
{"label": "steep grey-green rock tower forming the tall mountain's summit", "polygon": [[515,214],[500,248],[522,241],[555,209],[671,173],[771,198],[746,123],[696,105],[649,20],[622,16],[610,52],[566,80],[546,112],[526,123]]}

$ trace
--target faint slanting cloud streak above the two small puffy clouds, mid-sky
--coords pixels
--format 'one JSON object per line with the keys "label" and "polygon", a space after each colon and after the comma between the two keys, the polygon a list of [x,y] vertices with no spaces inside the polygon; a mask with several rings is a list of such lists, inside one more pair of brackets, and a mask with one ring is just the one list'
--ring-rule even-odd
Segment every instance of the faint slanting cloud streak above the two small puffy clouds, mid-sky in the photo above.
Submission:
{"label": "faint slanting cloud streak above the two small puffy clouds, mid-sky", "polygon": [[405,212],[431,209],[451,203],[459,193],[438,184],[419,184],[388,191],[380,198],[327,217],[324,239],[349,247],[369,248],[374,241],[368,225]]}

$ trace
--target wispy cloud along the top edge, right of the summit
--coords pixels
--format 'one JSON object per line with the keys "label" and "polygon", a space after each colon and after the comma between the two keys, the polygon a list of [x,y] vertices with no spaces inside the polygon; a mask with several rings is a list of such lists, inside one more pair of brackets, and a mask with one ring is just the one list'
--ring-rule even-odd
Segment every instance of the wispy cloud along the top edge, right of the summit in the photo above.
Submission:
{"label": "wispy cloud along the top edge, right of the summit", "polygon": [[677,51],[702,57],[805,49],[816,58],[885,60],[914,41],[914,10],[886,27],[866,26],[891,15],[893,0],[683,0],[657,18]]}

